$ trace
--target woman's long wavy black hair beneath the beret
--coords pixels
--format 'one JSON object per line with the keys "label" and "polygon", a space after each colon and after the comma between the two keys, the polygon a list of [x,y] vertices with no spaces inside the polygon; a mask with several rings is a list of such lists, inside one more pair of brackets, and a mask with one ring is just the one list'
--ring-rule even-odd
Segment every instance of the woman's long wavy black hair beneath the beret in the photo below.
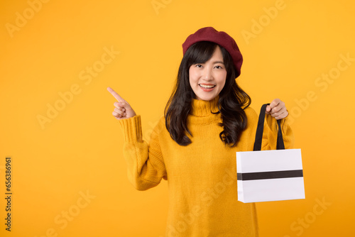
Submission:
{"label": "woman's long wavy black hair beneath the beret", "polygon": [[187,136],[187,134],[192,136],[187,127],[187,116],[191,111],[192,99],[195,98],[195,93],[190,87],[190,66],[207,62],[217,47],[222,51],[227,72],[226,83],[222,91],[219,92],[219,111],[214,113],[220,113],[222,118],[222,123],[219,123],[219,126],[223,127],[223,131],[219,133],[219,138],[226,145],[234,147],[238,143],[241,132],[246,128],[247,119],[244,109],[251,104],[251,98],[236,84],[235,79],[239,75],[236,72],[231,55],[217,43],[200,41],[191,45],[182,57],[173,93],[165,106],[165,126],[171,138],[179,145],[192,143]]}

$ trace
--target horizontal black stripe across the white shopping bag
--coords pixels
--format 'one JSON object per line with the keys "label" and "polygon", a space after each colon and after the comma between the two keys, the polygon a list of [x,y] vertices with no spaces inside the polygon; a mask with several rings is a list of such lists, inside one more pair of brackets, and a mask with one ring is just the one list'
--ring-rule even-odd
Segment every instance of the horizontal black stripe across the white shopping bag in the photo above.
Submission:
{"label": "horizontal black stripe across the white shopping bag", "polygon": [[302,170],[283,170],[268,172],[237,173],[237,180],[268,180],[288,177],[303,177]]}

